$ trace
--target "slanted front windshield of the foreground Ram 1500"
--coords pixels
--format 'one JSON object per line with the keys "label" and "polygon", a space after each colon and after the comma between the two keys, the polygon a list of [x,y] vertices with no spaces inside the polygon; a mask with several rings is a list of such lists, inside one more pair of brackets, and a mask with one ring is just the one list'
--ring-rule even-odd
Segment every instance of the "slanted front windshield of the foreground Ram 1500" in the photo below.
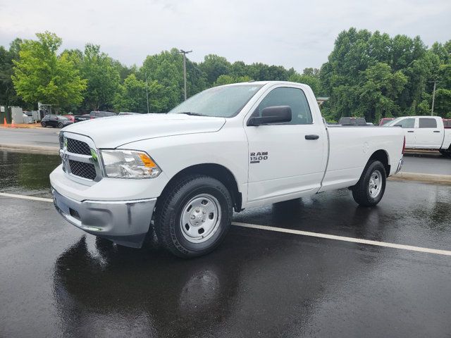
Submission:
{"label": "slanted front windshield of the foreground Ram 1500", "polygon": [[206,89],[182,102],[169,113],[232,118],[261,87],[263,84],[239,84]]}

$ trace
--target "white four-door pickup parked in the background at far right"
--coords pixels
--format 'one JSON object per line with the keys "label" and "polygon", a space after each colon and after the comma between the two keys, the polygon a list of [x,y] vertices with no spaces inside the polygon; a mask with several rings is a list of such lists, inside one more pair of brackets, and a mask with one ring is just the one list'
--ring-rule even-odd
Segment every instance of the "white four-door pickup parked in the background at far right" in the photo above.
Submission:
{"label": "white four-door pickup parked in the background at far right", "polygon": [[451,129],[445,128],[438,116],[403,116],[383,127],[402,127],[406,149],[435,149],[451,155]]}

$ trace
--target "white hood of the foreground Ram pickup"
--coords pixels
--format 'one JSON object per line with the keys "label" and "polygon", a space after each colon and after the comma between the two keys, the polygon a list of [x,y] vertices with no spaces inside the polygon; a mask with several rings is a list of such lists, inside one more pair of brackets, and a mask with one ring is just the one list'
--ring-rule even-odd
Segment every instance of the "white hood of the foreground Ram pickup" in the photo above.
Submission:
{"label": "white hood of the foreground Ram pickup", "polygon": [[217,132],[225,123],[225,118],[185,114],[118,115],[74,123],[62,131],[86,135],[98,148],[116,148],[142,139]]}

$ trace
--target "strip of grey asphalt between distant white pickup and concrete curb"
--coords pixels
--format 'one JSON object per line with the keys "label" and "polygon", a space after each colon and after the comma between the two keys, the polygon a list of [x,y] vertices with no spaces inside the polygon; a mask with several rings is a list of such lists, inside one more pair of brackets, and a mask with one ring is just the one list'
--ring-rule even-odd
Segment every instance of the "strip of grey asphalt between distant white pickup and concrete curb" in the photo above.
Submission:
{"label": "strip of grey asphalt between distant white pickup and concrete curb", "polygon": [[451,175],[451,158],[431,152],[431,154],[404,154],[405,173],[428,173]]}

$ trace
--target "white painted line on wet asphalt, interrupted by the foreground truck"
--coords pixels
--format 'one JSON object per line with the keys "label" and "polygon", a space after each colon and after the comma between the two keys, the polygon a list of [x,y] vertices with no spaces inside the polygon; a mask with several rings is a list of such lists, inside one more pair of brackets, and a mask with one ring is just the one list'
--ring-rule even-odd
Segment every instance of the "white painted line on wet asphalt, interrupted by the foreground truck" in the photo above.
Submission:
{"label": "white painted line on wet asphalt, interrupted by the foreground truck", "polygon": [[[30,199],[32,201],[53,202],[53,199],[45,199],[43,197],[26,196],[26,195],[18,195],[18,194],[8,194],[6,192],[0,192],[0,196],[11,197],[14,199]],[[285,234],[300,234],[302,236],[308,236],[308,237],[335,239],[336,241],[342,241],[342,242],[352,242],[352,243],[359,243],[359,244],[384,246],[386,248],[402,249],[402,250],[409,250],[409,251],[419,251],[419,252],[426,252],[426,253],[435,253],[437,255],[443,255],[443,256],[451,256],[451,251],[428,249],[428,248],[423,248],[421,246],[395,244],[395,243],[388,243],[388,242],[378,242],[378,241],[371,241],[370,239],[359,239],[359,238],[354,238],[354,237],[336,236],[335,234],[321,234],[320,232],[309,232],[309,231],[302,231],[302,230],[285,229],[283,227],[269,227],[268,225],[257,225],[257,224],[240,223],[240,222],[232,222],[232,225],[235,225],[237,227],[248,227],[251,229],[283,232]]]}

